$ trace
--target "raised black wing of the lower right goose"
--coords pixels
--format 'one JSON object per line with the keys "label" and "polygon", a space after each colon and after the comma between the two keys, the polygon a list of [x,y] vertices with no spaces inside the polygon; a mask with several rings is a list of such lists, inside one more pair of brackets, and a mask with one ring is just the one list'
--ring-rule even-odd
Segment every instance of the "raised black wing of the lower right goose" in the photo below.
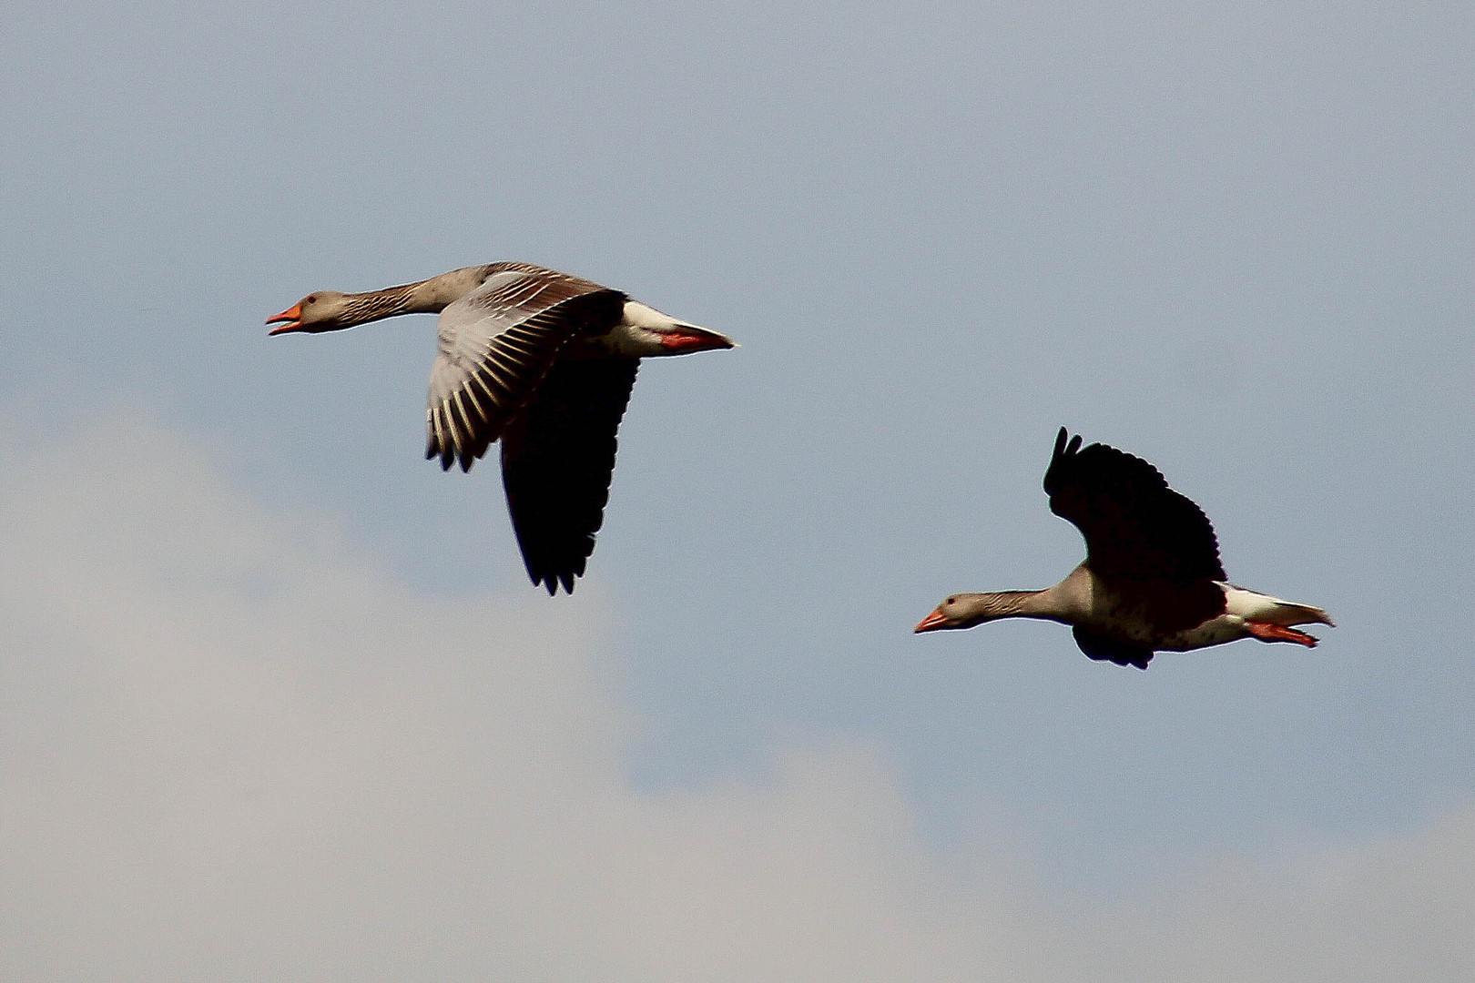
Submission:
{"label": "raised black wing of the lower right goose", "polygon": [[[1044,473],[1050,511],[1086,536],[1086,563],[1127,581],[1223,581],[1208,516],[1148,461],[1103,444],[1081,448],[1065,427]],[[1223,606],[1220,597],[1218,604]]]}

